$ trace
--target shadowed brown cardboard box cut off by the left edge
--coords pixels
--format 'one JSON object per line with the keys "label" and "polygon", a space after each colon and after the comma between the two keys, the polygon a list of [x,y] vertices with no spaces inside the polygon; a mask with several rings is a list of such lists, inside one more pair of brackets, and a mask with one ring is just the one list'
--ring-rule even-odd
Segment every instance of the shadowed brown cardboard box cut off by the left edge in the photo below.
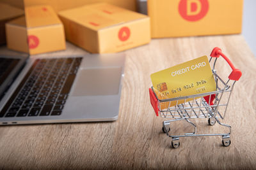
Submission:
{"label": "shadowed brown cardboard box cut off by the left edge", "polygon": [[24,11],[9,4],[0,3],[0,45],[6,42],[5,24],[14,18],[24,15]]}

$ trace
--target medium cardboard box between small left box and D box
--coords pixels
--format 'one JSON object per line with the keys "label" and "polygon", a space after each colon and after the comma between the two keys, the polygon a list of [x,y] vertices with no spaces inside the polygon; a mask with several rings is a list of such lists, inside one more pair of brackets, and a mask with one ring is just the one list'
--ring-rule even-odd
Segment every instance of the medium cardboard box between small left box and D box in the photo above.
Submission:
{"label": "medium cardboard box between small left box and D box", "polygon": [[68,41],[92,53],[113,53],[149,43],[146,15],[98,3],[60,11]]}

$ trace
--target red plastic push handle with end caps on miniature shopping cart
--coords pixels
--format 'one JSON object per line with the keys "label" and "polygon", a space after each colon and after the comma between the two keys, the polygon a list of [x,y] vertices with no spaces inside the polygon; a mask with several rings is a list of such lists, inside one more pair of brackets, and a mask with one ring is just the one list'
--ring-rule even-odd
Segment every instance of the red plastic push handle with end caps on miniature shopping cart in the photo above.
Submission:
{"label": "red plastic push handle with end caps on miniature shopping cart", "polygon": [[221,57],[223,57],[223,59],[225,59],[228,62],[229,66],[232,69],[232,72],[230,73],[228,78],[230,80],[238,81],[242,76],[242,72],[240,71],[240,69],[236,69],[236,67],[232,64],[232,62],[228,59],[228,57],[221,52],[221,49],[219,47],[213,48],[210,56],[218,58],[220,57],[220,55]]}

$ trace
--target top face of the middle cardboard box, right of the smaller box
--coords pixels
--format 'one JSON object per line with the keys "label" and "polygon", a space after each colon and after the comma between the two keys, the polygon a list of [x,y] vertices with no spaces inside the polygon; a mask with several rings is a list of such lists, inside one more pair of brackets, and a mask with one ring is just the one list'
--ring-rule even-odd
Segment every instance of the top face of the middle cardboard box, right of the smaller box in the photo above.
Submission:
{"label": "top face of the middle cardboard box, right of the smaller box", "polygon": [[73,20],[77,24],[84,25],[95,31],[104,27],[147,18],[147,15],[142,15],[106,3],[81,6],[79,8],[60,11],[58,14],[61,17]]}

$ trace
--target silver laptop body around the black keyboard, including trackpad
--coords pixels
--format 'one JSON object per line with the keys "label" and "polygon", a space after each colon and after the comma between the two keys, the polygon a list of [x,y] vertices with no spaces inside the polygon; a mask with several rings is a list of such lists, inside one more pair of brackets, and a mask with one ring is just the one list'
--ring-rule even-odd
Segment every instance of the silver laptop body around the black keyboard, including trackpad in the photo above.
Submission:
{"label": "silver laptop body around the black keyboard, including trackpad", "polygon": [[[124,54],[92,54],[77,57],[83,57],[83,60],[61,115],[1,117],[0,125],[116,120],[118,118],[122,79],[124,77]],[[26,66],[24,66],[19,76],[13,81],[1,99],[0,111],[13,92],[15,92],[15,89],[35,60],[36,58],[28,59]]]}

